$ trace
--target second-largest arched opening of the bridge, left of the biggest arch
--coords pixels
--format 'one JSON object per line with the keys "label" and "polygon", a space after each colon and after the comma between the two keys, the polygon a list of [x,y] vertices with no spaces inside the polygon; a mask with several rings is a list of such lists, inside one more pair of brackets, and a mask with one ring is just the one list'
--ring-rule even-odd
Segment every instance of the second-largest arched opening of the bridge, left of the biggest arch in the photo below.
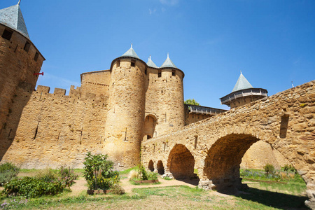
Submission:
{"label": "second-largest arched opening of the bridge, left of the biggest arch", "polygon": [[195,159],[183,144],[176,144],[169,153],[167,167],[175,179],[189,179],[194,176]]}

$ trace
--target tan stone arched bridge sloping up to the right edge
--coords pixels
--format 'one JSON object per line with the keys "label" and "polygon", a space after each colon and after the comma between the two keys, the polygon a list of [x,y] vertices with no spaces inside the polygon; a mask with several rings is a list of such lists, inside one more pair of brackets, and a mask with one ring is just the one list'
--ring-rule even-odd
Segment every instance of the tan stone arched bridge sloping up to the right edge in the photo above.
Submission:
{"label": "tan stone arched bridge sloping up to the right edge", "polygon": [[187,179],[198,170],[202,188],[240,188],[239,165],[262,140],[279,151],[307,183],[315,208],[315,80],[193,123],[141,144],[141,162],[151,171]]}

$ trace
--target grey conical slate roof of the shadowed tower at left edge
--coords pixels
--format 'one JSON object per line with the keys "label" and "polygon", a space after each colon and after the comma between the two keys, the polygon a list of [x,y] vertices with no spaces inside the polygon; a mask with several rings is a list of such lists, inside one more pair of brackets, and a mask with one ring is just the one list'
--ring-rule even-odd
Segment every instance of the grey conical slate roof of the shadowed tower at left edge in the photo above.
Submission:
{"label": "grey conical slate roof of the shadowed tower at left edge", "polygon": [[19,31],[29,38],[19,3],[0,10],[0,23]]}

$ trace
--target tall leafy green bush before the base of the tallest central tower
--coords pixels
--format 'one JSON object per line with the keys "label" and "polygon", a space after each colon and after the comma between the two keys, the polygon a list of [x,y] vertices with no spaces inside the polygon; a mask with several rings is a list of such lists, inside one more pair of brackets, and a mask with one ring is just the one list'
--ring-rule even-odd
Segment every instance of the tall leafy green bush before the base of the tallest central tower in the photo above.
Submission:
{"label": "tall leafy green bush before the base of the tallest central tower", "polygon": [[84,164],[84,178],[89,190],[108,190],[119,181],[119,173],[113,171],[113,162],[107,155],[91,155],[87,152]]}

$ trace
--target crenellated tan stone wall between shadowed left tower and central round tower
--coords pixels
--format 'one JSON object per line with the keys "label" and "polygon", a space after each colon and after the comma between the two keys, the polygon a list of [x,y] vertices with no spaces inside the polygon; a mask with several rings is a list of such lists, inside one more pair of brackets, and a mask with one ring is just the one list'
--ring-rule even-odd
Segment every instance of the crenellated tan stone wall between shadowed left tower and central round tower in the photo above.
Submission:
{"label": "crenellated tan stone wall between shadowed left tower and central round tower", "polygon": [[87,151],[103,152],[106,104],[96,97],[74,97],[78,90],[69,95],[63,89],[49,90],[38,85],[31,94],[15,140],[1,162],[27,169],[82,168]]}

